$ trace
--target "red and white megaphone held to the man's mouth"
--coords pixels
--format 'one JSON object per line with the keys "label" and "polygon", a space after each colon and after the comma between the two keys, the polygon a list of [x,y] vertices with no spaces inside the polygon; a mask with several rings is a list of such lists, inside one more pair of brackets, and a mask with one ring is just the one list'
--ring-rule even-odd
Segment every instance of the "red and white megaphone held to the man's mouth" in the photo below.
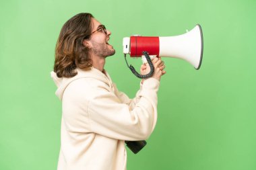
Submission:
{"label": "red and white megaphone held to the man's mouth", "polygon": [[[125,54],[125,60],[126,54],[129,54],[131,57],[142,57],[143,62],[149,61],[147,56],[151,59],[159,56],[181,58],[198,70],[203,58],[203,32],[201,26],[197,24],[193,30],[179,36],[125,37],[123,38],[123,53]],[[128,63],[127,66],[129,67]],[[131,71],[136,72],[131,67]],[[139,77],[139,75],[136,76]]]}

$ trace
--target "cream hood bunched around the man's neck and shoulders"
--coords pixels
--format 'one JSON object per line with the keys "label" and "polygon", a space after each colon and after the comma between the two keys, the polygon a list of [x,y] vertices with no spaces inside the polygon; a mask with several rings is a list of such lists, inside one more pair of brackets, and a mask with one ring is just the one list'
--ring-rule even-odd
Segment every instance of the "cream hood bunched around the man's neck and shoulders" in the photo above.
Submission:
{"label": "cream hood bunched around the man's neck and shoulders", "polygon": [[63,93],[66,87],[69,85],[69,83],[77,79],[94,78],[106,83],[106,85],[111,87],[112,81],[105,70],[101,72],[98,69],[95,69],[94,67],[90,67],[88,71],[83,71],[81,69],[75,69],[75,70],[77,71],[77,75],[71,78],[66,78],[66,77],[59,78],[57,77],[57,74],[54,71],[51,71],[51,77],[55,82],[55,85],[57,85],[57,91],[55,92],[55,94],[57,95],[57,97],[59,97],[59,99],[62,100]]}

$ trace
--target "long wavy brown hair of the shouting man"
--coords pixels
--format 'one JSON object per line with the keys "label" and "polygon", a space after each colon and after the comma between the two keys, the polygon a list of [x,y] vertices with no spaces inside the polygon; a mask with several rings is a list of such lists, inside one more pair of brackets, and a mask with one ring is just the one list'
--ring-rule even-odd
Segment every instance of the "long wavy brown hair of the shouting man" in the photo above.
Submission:
{"label": "long wavy brown hair of the shouting man", "polygon": [[55,48],[54,71],[57,77],[74,77],[76,68],[92,67],[88,48],[83,40],[92,32],[91,13],[78,13],[71,17],[61,28]]}

